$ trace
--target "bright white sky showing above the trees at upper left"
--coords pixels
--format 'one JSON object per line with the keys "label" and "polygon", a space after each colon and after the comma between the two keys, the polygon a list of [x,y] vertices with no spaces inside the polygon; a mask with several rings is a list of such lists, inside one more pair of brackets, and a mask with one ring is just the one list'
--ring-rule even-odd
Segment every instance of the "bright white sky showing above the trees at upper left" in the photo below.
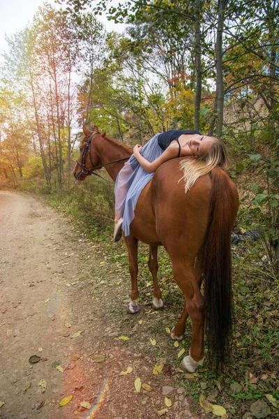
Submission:
{"label": "bright white sky showing above the trees at upper left", "polygon": [[[0,0],[0,54],[7,49],[5,34],[13,35],[15,32],[24,29],[28,22],[31,22],[39,6],[43,6],[45,0]],[[47,3],[54,7],[54,0]],[[98,19],[105,24],[107,31],[123,31],[125,25],[108,22],[105,16]]]}

